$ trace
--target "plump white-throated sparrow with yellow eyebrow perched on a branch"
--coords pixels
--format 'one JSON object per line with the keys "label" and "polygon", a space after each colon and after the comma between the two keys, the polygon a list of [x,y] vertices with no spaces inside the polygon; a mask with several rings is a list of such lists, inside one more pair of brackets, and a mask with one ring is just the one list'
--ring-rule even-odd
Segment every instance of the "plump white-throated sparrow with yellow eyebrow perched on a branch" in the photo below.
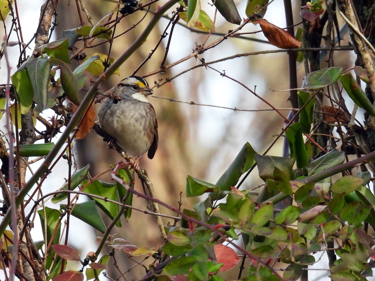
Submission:
{"label": "plump white-throated sparrow with yellow eyebrow perched on a branch", "polygon": [[147,151],[152,159],[159,141],[156,112],[148,101],[151,94],[145,79],[129,76],[104,93],[108,98],[98,113],[101,128],[136,164]]}

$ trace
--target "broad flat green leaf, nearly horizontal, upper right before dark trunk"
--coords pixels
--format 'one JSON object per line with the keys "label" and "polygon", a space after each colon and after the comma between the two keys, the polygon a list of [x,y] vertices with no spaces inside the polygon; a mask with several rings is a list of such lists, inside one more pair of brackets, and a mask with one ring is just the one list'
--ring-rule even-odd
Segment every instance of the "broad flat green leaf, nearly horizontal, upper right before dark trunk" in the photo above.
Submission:
{"label": "broad flat green leaf, nearly horizontal, upper right before dark trunk", "polygon": [[342,67],[330,67],[309,73],[305,78],[305,90],[315,91],[336,83],[342,73]]}

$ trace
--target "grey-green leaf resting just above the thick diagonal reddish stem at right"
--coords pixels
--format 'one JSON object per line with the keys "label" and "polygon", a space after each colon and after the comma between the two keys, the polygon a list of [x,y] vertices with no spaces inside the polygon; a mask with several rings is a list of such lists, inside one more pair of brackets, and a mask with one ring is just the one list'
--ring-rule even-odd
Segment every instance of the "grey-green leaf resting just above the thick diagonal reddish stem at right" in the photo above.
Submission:
{"label": "grey-green leaf resting just above the thick diagonal reddish stem at right", "polygon": [[318,159],[315,159],[310,164],[305,166],[303,169],[306,170],[307,175],[311,176],[323,172],[329,168],[338,166],[344,163],[344,161],[345,152],[333,149],[327,154],[324,154]]}

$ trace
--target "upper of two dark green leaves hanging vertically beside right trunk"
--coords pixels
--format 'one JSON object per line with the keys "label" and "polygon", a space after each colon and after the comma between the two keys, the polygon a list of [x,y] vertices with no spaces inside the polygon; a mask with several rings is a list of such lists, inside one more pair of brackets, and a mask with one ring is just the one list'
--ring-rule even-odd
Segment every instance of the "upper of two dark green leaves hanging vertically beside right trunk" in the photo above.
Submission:
{"label": "upper of two dark green leaves hanging vertically beside right trunk", "polygon": [[301,124],[302,133],[310,133],[311,124],[314,121],[314,104],[315,96],[309,101],[310,93],[305,91],[298,91],[298,106],[301,109],[305,104],[305,107],[300,111],[299,123]]}

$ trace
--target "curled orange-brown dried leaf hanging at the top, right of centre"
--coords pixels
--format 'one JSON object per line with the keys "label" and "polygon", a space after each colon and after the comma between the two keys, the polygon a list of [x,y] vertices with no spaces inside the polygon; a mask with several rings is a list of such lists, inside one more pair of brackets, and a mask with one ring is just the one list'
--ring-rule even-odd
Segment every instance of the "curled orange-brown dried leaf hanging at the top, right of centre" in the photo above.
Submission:
{"label": "curled orange-brown dried leaf hanging at the top, right of centre", "polygon": [[298,48],[302,43],[296,40],[288,31],[270,23],[266,19],[258,19],[254,21],[260,24],[264,36],[267,37],[269,42],[276,47],[282,49]]}

